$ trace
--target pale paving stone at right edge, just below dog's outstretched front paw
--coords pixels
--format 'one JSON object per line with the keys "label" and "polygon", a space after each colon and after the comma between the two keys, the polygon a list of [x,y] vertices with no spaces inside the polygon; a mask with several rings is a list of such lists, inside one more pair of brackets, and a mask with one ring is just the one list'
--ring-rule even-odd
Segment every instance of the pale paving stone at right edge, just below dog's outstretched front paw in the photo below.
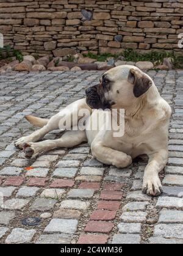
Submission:
{"label": "pale paving stone at right edge, just below dog's outstretched front paw", "polygon": [[159,197],[156,203],[157,208],[178,208],[183,210],[183,199],[177,197]]}

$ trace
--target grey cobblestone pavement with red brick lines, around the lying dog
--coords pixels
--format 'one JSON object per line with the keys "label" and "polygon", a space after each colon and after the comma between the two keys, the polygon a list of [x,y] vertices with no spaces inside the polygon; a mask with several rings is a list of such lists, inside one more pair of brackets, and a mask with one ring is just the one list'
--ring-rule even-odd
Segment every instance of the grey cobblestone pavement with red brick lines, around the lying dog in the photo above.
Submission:
{"label": "grey cobblestone pavement with red brick lines, around the lying dog", "polygon": [[[149,71],[173,108],[170,158],[160,174],[160,197],[140,190],[145,158],[119,170],[91,159],[87,144],[35,159],[26,159],[13,145],[16,138],[35,130],[24,115],[51,117],[82,98],[85,87],[94,85],[101,74],[0,76],[1,243],[183,243],[183,71]],[[59,135],[53,131],[46,139]],[[24,218],[32,217],[41,222],[24,225]]]}

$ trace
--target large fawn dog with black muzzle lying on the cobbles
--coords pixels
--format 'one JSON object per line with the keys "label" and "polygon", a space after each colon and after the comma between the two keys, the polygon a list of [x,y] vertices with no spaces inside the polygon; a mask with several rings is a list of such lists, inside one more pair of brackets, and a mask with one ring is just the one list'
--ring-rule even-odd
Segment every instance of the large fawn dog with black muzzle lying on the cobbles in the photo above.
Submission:
{"label": "large fawn dog with black muzzle lying on the cobbles", "polygon": [[[38,142],[49,131],[58,128],[62,130],[60,121],[63,117],[66,120],[71,114],[74,117],[71,125],[75,127],[81,119],[79,110],[87,109],[88,123],[91,119],[96,122],[106,108],[108,115],[113,109],[124,109],[123,136],[113,136],[113,130],[105,130],[104,123],[99,122],[95,131],[65,128],[67,131],[60,139]],[[152,79],[137,67],[121,65],[106,71],[99,84],[86,89],[85,98],[71,103],[51,119],[26,116],[30,123],[41,129],[21,137],[15,142],[15,146],[31,157],[35,153],[53,148],[70,148],[81,142],[88,142],[93,158],[118,168],[129,166],[132,159],[139,155],[148,155],[142,191],[149,196],[158,196],[162,192],[159,172],[163,170],[168,159],[170,116],[171,108],[160,97]]]}

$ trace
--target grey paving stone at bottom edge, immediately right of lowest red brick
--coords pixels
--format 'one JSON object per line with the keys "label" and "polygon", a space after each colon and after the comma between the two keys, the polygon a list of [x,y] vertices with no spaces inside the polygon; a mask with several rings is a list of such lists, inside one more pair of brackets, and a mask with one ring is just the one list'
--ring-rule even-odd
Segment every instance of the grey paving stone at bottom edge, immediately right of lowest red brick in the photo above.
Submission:
{"label": "grey paving stone at bottom edge, immediately right of lowest red brick", "polygon": [[140,235],[134,234],[115,234],[112,244],[140,244]]}

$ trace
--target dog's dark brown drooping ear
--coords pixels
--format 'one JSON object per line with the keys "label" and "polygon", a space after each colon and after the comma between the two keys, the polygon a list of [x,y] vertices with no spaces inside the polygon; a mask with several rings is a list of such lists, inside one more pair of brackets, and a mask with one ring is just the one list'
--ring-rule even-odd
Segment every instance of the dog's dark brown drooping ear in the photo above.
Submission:
{"label": "dog's dark brown drooping ear", "polygon": [[128,81],[134,84],[136,98],[140,97],[152,86],[152,81],[135,68],[131,68],[129,71]]}

